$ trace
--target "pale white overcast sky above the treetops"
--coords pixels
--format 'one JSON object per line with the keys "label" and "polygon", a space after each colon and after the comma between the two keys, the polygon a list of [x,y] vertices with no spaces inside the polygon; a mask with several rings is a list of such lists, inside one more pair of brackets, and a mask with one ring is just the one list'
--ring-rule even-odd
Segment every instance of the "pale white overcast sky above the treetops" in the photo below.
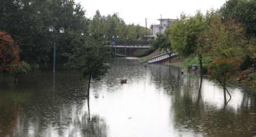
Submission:
{"label": "pale white overcast sky above the treetops", "polygon": [[91,18],[97,9],[101,15],[118,13],[126,24],[140,24],[145,26],[145,18],[148,26],[159,24],[157,19],[162,15],[163,19],[176,19],[181,13],[194,15],[197,10],[205,13],[206,10],[219,9],[226,0],[75,0],[80,2],[86,10],[86,17]]}

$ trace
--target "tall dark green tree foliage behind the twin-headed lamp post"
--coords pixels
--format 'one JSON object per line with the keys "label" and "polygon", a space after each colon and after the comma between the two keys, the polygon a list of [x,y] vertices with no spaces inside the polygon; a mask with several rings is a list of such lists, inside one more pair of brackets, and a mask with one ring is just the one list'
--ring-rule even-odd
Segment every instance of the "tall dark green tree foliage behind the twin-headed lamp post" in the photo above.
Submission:
{"label": "tall dark green tree foliage behind the twin-headed lamp post", "polygon": [[[85,10],[73,0],[3,0],[0,5],[1,30],[14,35],[20,43],[20,58],[31,63],[48,62],[52,56],[53,38],[48,27],[56,30],[87,30],[88,19]],[[80,33],[79,32],[79,33]],[[65,31],[66,33],[66,31]],[[66,38],[67,36],[67,38]],[[59,36],[58,57],[69,52],[70,37]],[[57,58],[59,59],[59,58]]]}

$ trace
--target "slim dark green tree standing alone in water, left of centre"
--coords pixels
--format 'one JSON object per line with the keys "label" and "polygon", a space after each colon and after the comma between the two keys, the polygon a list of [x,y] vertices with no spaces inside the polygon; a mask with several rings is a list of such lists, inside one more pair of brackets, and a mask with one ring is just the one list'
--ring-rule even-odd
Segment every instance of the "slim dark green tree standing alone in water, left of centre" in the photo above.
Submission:
{"label": "slim dark green tree standing alone in water, left of centre", "polygon": [[88,98],[91,78],[99,80],[109,67],[107,62],[110,58],[110,49],[104,45],[104,38],[98,36],[91,35],[85,43],[75,39],[72,42],[73,54],[69,55],[69,61],[66,64],[79,71],[83,78],[88,78]]}

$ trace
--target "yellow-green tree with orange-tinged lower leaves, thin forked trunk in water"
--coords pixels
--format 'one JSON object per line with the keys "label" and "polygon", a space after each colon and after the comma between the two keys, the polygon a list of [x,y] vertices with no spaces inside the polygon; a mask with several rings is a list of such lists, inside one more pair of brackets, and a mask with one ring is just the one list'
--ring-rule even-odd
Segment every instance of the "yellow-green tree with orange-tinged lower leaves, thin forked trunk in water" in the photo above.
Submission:
{"label": "yellow-green tree with orange-tinged lower leaves, thin forked trunk in water", "polygon": [[248,39],[241,25],[232,20],[222,22],[219,14],[211,21],[206,36],[204,48],[213,59],[209,64],[209,73],[222,85],[227,104],[227,81],[238,74],[239,65],[246,59]]}

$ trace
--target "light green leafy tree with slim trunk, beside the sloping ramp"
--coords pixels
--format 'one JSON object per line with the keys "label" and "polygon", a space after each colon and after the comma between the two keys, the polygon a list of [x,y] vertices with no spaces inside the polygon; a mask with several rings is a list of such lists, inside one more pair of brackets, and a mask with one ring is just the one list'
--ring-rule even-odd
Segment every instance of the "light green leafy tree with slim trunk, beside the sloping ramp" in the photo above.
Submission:
{"label": "light green leafy tree with slim trunk, beside the sloping ramp", "polygon": [[201,38],[207,29],[205,17],[200,11],[195,16],[181,15],[170,27],[170,39],[175,51],[184,57],[195,54],[199,56],[201,77],[203,77],[203,43]]}

